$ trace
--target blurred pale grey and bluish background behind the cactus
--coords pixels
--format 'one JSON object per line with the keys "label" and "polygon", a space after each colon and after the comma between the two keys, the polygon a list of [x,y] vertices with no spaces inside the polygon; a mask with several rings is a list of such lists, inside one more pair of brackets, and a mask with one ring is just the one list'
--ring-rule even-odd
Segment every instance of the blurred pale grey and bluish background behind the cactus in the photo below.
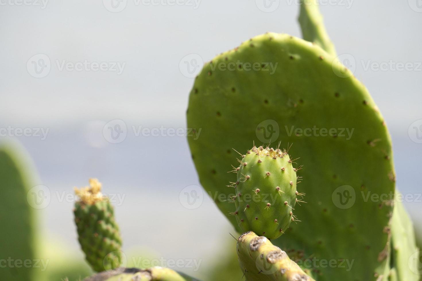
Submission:
{"label": "blurred pale grey and bluish background behind the cactus", "polygon": [[[203,62],[243,40],[266,31],[301,37],[298,1],[0,5],[0,139],[23,144],[46,187],[48,202],[36,209],[43,239],[83,260],[73,187],[96,177],[120,196],[124,251],[194,259],[198,268],[174,269],[204,276],[235,233],[200,189],[195,209],[183,196],[199,186],[186,140],[189,91]],[[387,121],[398,188],[421,193],[422,2],[321,0],[320,9],[339,58]],[[419,228],[421,202],[404,202]]]}

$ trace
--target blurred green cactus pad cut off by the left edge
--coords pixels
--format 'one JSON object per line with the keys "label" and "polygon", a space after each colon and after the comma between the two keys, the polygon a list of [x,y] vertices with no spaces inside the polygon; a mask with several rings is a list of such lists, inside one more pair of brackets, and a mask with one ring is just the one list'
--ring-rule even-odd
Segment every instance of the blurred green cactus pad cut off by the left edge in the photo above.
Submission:
{"label": "blurred green cactus pad cut off by the left edge", "polygon": [[[35,212],[31,188],[35,186],[32,161],[20,145],[0,147],[0,280],[37,280],[35,267],[24,262],[38,259],[35,249]],[[34,173],[35,174],[35,173]],[[16,263],[20,262],[20,264]]]}

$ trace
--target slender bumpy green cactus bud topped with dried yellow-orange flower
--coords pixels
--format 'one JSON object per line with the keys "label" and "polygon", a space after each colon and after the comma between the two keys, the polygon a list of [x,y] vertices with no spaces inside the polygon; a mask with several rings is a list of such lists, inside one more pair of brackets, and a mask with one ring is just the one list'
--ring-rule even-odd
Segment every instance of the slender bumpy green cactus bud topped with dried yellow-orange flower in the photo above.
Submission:
{"label": "slender bumpy green cactus bud topped with dried yellow-orange flower", "polygon": [[92,269],[99,272],[118,268],[122,259],[122,239],[114,220],[114,209],[101,193],[97,179],[89,179],[89,187],[77,189],[80,201],[75,203],[78,241]]}

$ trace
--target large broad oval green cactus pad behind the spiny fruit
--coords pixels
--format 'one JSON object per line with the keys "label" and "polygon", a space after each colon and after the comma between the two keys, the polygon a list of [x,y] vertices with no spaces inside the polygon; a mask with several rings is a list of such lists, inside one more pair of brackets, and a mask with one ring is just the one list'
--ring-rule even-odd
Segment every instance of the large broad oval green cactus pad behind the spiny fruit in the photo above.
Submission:
{"label": "large broad oval green cactus pad behind the spiny fruit", "polygon": [[394,194],[390,136],[365,86],[334,56],[286,34],[254,37],[203,67],[189,96],[187,126],[202,129],[188,137],[192,158],[224,214],[233,203],[222,198],[237,195],[227,187],[233,182],[227,167],[238,165],[231,148],[293,144],[289,155],[300,156],[307,203],[294,211],[302,222],[273,243],[317,258],[317,280],[384,274],[392,204],[368,194]]}

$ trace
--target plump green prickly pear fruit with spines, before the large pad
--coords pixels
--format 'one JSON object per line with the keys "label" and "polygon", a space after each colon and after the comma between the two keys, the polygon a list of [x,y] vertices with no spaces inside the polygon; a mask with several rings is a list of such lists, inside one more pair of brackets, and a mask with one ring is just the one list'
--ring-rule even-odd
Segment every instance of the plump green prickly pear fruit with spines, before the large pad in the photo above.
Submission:
{"label": "plump green prickly pear fruit with spines, before the large pad", "polygon": [[302,196],[296,191],[298,169],[286,150],[269,147],[252,147],[239,160],[234,170],[237,181],[233,198],[235,215],[243,231],[252,230],[259,235],[275,239],[281,236],[290,222],[297,220],[293,214],[297,199]]}

